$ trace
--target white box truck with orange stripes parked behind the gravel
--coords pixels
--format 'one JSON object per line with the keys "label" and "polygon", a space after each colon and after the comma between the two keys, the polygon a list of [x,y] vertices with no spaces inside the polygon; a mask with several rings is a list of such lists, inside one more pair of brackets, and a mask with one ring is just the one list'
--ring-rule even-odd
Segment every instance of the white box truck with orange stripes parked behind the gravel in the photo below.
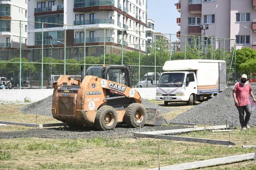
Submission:
{"label": "white box truck with orange stripes parked behind the gravel", "polygon": [[227,87],[224,60],[166,61],[156,87],[156,100],[189,105],[217,95]]}

